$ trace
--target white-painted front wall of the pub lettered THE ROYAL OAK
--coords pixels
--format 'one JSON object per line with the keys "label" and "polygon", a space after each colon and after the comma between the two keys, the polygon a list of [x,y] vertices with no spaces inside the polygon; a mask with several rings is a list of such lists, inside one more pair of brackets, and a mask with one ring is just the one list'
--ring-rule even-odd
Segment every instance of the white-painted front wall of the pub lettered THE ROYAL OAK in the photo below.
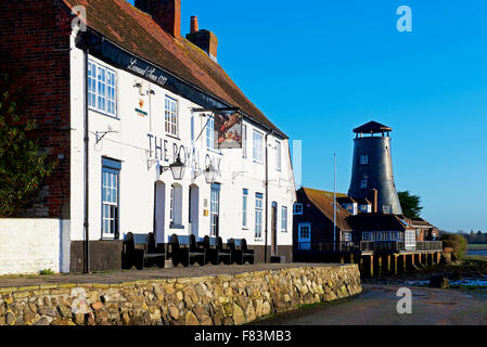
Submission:
{"label": "white-painted front wall of the pub lettered THE ROYAL OAK", "polygon": [[[182,99],[162,87],[121,69],[116,69],[94,57],[90,57],[101,65],[108,66],[117,74],[117,110],[118,119],[98,112],[89,112],[90,123],[90,162],[89,162],[89,224],[90,240],[101,239],[101,169],[102,157],[110,157],[121,162],[120,170],[120,206],[119,226],[120,237],[127,232],[143,233],[154,231],[154,183],[164,182],[165,216],[158,221],[164,222],[164,235],[157,235],[158,242],[167,242],[168,236],[176,234],[190,234],[189,230],[189,190],[191,184],[198,188],[198,236],[209,234],[209,216],[204,216],[204,209],[209,210],[210,185],[206,183],[203,175],[194,177],[195,169],[205,168],[205,158],[209,156],[214,163],[220,162],[220,172],[216,181],[221,183],[220,194],[220,236],[223,242],[230,237],[245,237],[249,245],[264,245],[265,240],[254,237],[255,226],[255,193],[265,194],[265,165],[256,164],[252,158],[252,131],[254,128],[265,132],[264,129],[245,121],[247,125],[247,157],[242,158],[242,150],[221,150],[220,153],[206,149],[206,131],[202,132],[207,118],[198,113],[192,113],[193,107],[201,107],[193,102]],[[84,240],[84,52],[73,46],[72,50],[72,240]],[[139,89],[133,88],[136,82],[151,88],[155,94],[140,95]],[[178,101],[179,108],[179,137],[175,139],[165,133],[164,101],[168,95]],[[139,107],[139,100],[144,101],[146,117],[141,117],[134,111]],[[194,117],[194,137],[191,139],[191,117]],[[95,143],[97,131],[116,131],[107,133],[99,143]],[[148,134],[167,141],[167,162],[154,162],[154,152],[149,152]],[[282,170],[275,170],[275,137],[268,137],[269,143],[269,198],[268,198],[268,245],[271,244],[270,206],[278,203],[278,243],[292,245],[293,203],[295,200],[294,181],[291,168],[289,143],[281,140]],[[190,152],[196,151],[196,159],[185,169],[182,181],[175,182],[170,170],[158,174],[159,165],[168,166],[175,159],[172,145],[183,145]],[[265,149],[262,149],[265,155]],[[149,159],[149,160],[148,160]],[[148,164],[152,164],[148,167]],[[184,229],[171,229],[169,226],[169,194],[172,183],[182,185],[182,224]],[[242,194],[248,189],[248,229],[242,228]],[[207,207],[204,207],[204,203]],[[287,232],[281,232],[281,206],[287,207]],[[264,215],[265,216],[265,215]],[[262,217],[264,217],[262,216]],[[262,227],[262,235],[265,229]]]}

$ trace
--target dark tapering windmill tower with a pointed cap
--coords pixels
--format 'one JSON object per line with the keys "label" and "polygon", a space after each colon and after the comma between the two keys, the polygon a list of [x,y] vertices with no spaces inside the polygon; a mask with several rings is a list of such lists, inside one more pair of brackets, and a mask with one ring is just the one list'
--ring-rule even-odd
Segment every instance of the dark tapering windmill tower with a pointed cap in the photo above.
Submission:
{"label": "dark tapering windmill tower with a pointed cap", "polygon": [[376,201],[373,207],[376,213],[401,215],[394,183],[390,131],[390,127],[376,121],[354,129],[356,138],[348,196]]}

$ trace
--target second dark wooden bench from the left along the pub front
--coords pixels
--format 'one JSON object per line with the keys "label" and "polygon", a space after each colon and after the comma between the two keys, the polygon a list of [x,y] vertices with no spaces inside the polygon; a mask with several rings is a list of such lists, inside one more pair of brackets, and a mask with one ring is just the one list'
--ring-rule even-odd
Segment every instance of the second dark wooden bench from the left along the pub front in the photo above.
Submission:
{"label": "second dark wooden bench from the left along the pub front", "polygon": [[195,259],[200,266],[206,262],[205,248],[200,247],[194,235],[177,235],[172,234],[170,237],[172,265],[177,267],[182,264],[189,267],[194,264],[191,259]]}

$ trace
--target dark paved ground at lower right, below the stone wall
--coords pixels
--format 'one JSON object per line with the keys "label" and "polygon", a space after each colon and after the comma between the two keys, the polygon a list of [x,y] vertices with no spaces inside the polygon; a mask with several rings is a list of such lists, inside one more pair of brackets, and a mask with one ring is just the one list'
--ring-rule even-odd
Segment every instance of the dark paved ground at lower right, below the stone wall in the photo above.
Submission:
{"label": "dark paved ground at lower right, below the stone wall", "polygon": [[453,290],[410,287],[412,313],[396,310],[398,285],[364,284],[341,301],[281,313],[257,324],[286,325],[486,325],[487,297]]}

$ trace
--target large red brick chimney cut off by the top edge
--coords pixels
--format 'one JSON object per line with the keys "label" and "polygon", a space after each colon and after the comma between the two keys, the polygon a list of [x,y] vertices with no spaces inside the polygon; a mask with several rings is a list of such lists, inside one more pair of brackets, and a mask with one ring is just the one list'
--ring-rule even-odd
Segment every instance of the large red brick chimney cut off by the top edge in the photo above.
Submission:
{"label": "large red brick chimney cut off by the top edge", "polygon": [[167,34],[181,37],[181,0],[136,0],[136,8],[152,15]]}

